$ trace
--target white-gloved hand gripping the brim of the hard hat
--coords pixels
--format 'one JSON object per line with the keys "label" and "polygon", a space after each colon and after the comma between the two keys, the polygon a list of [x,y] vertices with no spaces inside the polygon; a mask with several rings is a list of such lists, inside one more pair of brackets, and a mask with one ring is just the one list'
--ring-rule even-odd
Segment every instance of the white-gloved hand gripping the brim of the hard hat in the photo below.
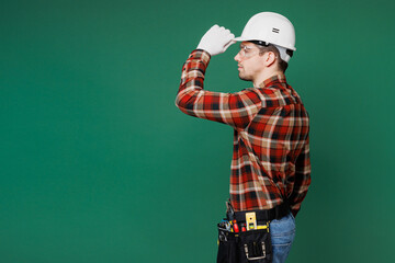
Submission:
{"label": "white-gloved hand gripping the brim of the hard hat", "polygon": [[203,49],[215,56],[224,53],[232,44],[235,35],[224,26],[213,25],[202,37],[198,45],[198,49]]}

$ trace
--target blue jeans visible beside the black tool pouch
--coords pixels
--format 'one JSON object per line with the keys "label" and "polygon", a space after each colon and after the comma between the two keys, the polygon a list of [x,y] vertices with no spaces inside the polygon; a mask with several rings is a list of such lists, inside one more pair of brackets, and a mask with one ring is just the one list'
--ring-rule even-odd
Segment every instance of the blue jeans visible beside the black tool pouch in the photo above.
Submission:
{"label": "blue jeans visible beside the black tool pouch", "polygon": [[270,235],[273,247],[273,263],[285,262],[295,238],[295,218],[290,213],[281,219],[270,222]]}

